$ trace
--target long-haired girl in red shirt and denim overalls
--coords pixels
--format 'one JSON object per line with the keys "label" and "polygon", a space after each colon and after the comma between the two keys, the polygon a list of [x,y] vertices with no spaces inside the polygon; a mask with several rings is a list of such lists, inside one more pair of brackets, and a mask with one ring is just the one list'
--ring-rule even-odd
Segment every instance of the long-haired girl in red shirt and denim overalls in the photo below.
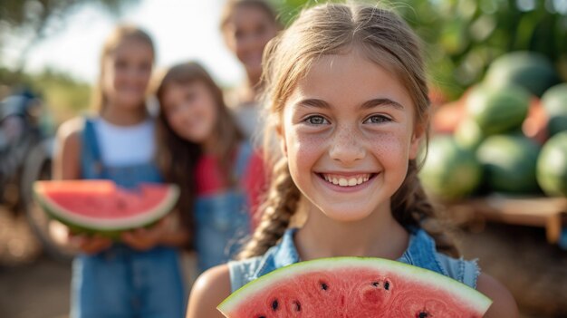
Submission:
{"label": "long-haired girl in red shirt and denim overalls", "polygon": [[157,97],[159,167],[181,188],[178,209],[193,234],[201,272],[229,260],[250,233],[263,162],[199,64],[170,68]]}

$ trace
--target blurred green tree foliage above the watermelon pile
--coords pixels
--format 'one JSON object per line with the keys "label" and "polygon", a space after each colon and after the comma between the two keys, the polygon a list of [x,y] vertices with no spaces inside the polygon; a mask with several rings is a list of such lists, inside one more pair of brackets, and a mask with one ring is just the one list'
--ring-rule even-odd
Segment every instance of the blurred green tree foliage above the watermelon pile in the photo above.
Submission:
{"label": "blurred green tree foliage above the watermelon pile", "polygon": [[[329,1],[273,2],[281,10],[283,23],[288,24],[302,7]],[[556,65],[563,80],[567,80],[567,2],[564,0],[394,0],[390,3],[388,6],[404,17],[426,43],[431,81],[451,99],[479,82],[495,57],[517,50],[543,53]]]}

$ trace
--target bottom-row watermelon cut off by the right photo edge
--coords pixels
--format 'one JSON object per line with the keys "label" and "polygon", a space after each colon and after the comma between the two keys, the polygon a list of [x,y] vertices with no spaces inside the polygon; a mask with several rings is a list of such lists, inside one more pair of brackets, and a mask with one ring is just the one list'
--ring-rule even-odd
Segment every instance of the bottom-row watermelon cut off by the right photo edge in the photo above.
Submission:
{"label": "bottom-row watermelon cut off by the right photo edge", "polygon": [[537,181],[550,197],[567,197],[567,131],[543,145],[537,159]]}

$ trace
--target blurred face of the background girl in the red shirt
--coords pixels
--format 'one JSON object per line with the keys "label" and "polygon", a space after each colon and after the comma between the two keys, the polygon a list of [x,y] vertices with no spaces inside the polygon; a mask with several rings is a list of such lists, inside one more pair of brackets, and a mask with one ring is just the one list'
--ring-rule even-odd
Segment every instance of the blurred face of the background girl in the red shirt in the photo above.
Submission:
{"label": "blurred face of the background girl in the red shirt", "polygon": [[217,110],[207,84],[199,81],[169,83],[161,102],[169,125],[179,137],[202,144],[212,136]]}

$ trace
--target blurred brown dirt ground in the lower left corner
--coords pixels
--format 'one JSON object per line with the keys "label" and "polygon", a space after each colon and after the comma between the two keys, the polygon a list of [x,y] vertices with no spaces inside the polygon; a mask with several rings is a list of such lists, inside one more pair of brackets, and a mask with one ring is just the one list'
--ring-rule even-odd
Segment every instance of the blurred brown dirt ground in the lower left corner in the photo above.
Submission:
{"label": "blurred brown dirt ground in the lower left corner", "polygon": [[0,317],[63,318],[71,264],[42,254],[23,217],[0,207]]}

